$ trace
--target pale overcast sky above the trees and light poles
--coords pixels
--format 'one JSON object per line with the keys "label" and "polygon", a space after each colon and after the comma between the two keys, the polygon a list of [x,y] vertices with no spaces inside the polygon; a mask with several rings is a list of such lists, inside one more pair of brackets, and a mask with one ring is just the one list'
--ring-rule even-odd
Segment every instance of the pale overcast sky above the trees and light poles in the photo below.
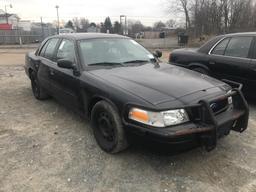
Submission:
{"label": "pale overcast sky above the trees and light poles", "polygon": [[120,14],[128,19],[141,20],[145,25],[155,21],[174,18],[166,9],[167,0],[0,0],[0,9],[12,4],[8,12],[17,13],[23,20],[46,22],[56,20],[55,6],[59,5],[60,18],[67,21],[74,17],[85,17],[99,23],[110,16],[118,20]]}

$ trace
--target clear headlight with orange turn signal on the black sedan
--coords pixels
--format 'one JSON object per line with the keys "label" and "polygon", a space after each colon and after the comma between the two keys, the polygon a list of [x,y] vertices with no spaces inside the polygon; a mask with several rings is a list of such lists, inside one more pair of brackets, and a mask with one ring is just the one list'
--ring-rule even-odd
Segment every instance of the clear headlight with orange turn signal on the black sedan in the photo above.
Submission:
{"label": "clear headlight with orange turn signal on the black sedan", "polygon": [[129,111],[129,119],[153,127],[167,127],[189,121],[188,114],[184,109],[152,112],[138,108],[131,108]]}

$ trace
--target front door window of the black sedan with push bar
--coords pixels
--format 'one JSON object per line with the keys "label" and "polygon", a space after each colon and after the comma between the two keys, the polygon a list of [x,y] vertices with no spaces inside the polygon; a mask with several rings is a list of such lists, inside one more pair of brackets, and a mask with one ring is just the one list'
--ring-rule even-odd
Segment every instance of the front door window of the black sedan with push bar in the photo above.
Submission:
{"label": "front door window of the black sedan with push bar", "polygon": [[63,39],[57,51],[57,59],[66,59],[75,62],[75,58],[76,54],[74,42]]}

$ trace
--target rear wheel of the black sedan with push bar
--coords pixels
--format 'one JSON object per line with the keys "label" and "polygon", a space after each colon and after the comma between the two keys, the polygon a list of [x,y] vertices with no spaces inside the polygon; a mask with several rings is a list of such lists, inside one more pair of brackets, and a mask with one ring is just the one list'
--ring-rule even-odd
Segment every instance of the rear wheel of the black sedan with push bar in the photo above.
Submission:
{"label": "rear wheel of the black sedan with push bar", "polygon": [[49,95],[46,91],[40,86],[40,83],[37,79],[37,75],[34,71],[30,73],[30,80],[31,80],[31,88],[33,95],[38,100],[45,100],[49,98]]}

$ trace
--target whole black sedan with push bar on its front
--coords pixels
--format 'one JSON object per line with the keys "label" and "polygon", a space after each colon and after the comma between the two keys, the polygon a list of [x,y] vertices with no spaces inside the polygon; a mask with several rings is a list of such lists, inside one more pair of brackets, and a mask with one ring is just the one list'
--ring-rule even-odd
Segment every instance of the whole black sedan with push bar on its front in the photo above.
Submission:
{"label": "whole black sedan with push bar on its front", "polygon": [[159,56],[119,35],[61,35],[28,53],[25,71],[36,99],[55,97],[89,118],[109,153],[124,150],[128,134],[211,150],[230,130],[247,128],[240,84],[159,64]]}

